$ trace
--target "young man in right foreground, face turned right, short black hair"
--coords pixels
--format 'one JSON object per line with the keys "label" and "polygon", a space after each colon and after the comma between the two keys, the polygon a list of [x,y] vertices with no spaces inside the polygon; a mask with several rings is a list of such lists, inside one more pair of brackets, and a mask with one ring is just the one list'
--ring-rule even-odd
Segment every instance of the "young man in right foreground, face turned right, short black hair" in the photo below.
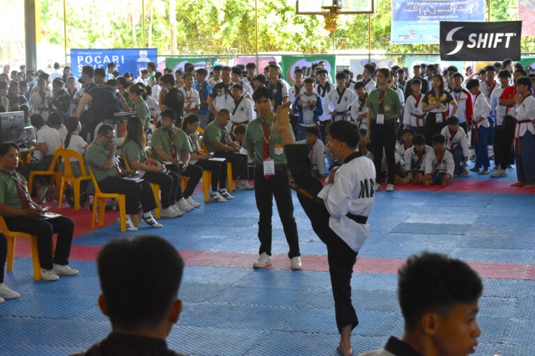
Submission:
{"label": "young man in right foreground, face turned right, short black hair", "polygon": [[361,356],[466,356],[474,353],[481,330],[476,321],[481,277],[465,262],[423,252],[398,270],[403,338]]}

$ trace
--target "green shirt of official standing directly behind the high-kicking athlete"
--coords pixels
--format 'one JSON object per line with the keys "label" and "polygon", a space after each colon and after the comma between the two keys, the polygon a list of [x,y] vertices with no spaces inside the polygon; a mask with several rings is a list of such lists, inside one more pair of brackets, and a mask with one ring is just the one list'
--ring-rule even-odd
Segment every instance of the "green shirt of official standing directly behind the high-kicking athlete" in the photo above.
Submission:
{"label": "green shirt of official standing directly behind the high-kicking athlete", "polygon": [[[267,119],[267,129],[271,131],[271,126],[274,116],[272,115]],[[254,152],[254,163],[263,163],[264,152],[264,133],[262,129],[263,122],[260,116],[255,120],[249,122],[247,130],[245,131],[245,138],[243,139],[242,147],[245,149],[252,149]],[[275,128],[273,127],[273,130]],[[293,136],[293,132],[292,132]],[[284,154],[284,145],[282,138],[277,132],[273,132],[270,144],[270,157],[274,160],[275,164],[286,164],[286,155]]]}

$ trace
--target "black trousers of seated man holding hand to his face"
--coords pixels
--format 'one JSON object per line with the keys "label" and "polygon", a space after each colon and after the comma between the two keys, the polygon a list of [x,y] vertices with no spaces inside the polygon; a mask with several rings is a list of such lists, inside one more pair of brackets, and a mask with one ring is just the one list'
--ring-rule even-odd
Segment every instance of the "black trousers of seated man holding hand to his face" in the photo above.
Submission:
{"label": "black trousers of seated man holding hand to his face", "polygon": [[107,177],[99,181],[98,186],[102,193],[124,194],[127,214],[138,214],[139,202],[141,202],[144,213],[156,209],[153,190],[146,180],[136,183],[118,177]]}

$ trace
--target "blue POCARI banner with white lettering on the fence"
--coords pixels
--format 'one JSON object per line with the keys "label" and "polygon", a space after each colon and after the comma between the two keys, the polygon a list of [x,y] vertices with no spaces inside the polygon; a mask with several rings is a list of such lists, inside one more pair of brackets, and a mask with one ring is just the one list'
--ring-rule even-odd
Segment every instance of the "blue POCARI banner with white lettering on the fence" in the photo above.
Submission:
{"label": "blue POCARI banner with white lettering on the fence", "polygon": [[157,63],[158,50],[155,48],[129,48],[129,49],[71,49],[70,63],[72,75],[81,76],[82,67],[91,65],[94,68],[106,69],[108,63],[117,65],[119,74],[130,72],[134,78],[139,71],[147,67],[147,63]]}

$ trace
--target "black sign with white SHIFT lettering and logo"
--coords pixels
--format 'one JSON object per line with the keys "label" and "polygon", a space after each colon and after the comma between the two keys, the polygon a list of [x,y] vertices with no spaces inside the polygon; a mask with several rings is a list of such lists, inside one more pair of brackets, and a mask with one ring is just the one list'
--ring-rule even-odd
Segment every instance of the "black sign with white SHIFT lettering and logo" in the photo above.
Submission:
{"label": "black sign with white SHIFT lettering and logo", "polygon": [[440,22],[441,60],[520,60],[521,21]]}

